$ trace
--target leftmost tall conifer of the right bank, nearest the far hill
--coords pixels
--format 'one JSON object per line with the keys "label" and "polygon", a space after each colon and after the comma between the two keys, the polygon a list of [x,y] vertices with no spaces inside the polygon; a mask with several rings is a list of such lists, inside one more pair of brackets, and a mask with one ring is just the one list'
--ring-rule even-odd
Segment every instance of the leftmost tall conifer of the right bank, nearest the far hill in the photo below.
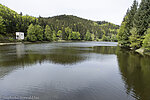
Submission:
{"label": "leftmost tall conifer of the right bank, nearest the far hill", "polygon": [[134,0],[130,9],[127,10],[126,16],[123,19],[120,30],[118,32],[118,42],[123,47],[130,47],[129,37],[132,35],[130,30],[133,28],[133,19],[137,12],[138,3]]}

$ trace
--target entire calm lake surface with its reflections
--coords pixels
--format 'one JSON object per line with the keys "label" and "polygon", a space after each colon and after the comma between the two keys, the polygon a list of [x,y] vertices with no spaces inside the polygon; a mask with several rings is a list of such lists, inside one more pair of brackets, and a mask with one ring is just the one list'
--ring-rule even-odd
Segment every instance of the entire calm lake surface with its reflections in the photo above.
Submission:
{"label": "entire calm lake surface with its reflections", "polygon": [[0,100],[10,96],[150,100],[150,57],[113,42],[0,46]]}

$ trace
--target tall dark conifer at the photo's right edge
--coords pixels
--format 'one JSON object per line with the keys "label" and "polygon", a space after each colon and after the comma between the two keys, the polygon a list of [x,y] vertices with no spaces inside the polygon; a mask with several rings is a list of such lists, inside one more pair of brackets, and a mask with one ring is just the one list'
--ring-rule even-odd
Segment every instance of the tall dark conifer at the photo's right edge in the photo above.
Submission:
{"label": "tall dark conifer at the photo's right edge", "polygon": [[[142,47],[145,31],[148,29],[150,17],[150,0],[142,0],[141,4],[134,16],[133,28],[136,28],[136,41],[140,44],[136,45],[136,48]],[[132,36],[133,37],[133,36]],[[139,43],[138,42],[138,43]],[[132,46],[132,44],[131,44]]]}

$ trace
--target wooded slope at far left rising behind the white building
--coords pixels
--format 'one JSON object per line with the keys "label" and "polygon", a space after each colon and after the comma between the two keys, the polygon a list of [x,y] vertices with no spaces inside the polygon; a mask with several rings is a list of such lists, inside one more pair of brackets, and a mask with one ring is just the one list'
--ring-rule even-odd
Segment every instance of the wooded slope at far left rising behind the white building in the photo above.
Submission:
{"label": "wooded slope at far left rising behind the white building", "polygon": [[0,4],[0,37],[14,35],[16,31],[27,32],[28,26],[37,24],[37,18],[22,16],[6,6]]}

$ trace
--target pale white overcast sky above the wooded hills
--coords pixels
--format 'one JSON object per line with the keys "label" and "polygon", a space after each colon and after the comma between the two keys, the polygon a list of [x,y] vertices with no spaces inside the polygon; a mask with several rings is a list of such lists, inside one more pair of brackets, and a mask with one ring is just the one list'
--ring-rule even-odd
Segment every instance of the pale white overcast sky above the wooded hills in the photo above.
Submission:
{"label": "pale white overcast sky above the wooded hills", "polygon": [[24,15],[52,17],[67,14],[120,25],[133,0],[0,0],[0,3]]}

